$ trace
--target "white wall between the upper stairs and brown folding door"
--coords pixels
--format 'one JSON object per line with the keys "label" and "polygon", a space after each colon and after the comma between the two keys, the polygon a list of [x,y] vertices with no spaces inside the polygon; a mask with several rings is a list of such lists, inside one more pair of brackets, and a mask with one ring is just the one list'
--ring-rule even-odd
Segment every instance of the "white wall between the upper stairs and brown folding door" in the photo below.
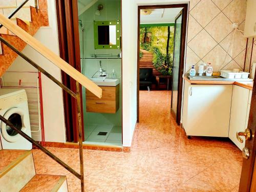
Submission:
{"label": "white wall between the upper stairs and brown folding door", "polygon": [[[50,27],[41,27],[34,37],[59,55],[55,1],[48,1],[48,14]],[[26,46],[23,53],[53,75],[57,80],[61,81],[60,70],[49,60],[42,57],[29,46]],[[8,70],[31,71],[33,67],[24,59],[18,57]],[[66,142],[62,90],[45,75],[42,75],[42,96],[44,102],[45,140]]]}

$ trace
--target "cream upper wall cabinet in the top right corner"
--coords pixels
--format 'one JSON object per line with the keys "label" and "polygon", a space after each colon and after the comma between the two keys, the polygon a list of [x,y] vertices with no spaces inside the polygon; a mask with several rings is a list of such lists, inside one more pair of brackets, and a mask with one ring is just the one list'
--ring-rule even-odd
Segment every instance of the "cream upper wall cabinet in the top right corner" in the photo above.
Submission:
{"label": "cream upper wall cabinet in the top right corner", "polygon": [[256,1],[247,0],[244,37],[256,36]]}

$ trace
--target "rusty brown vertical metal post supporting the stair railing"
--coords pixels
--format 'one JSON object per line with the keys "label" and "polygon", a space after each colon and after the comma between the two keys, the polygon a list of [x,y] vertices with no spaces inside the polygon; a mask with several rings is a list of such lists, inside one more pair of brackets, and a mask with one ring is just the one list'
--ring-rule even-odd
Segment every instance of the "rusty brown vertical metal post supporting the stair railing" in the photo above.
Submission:
{"label": "rusty brown vertical metal post supporting the stair railing", "polygon": [[77,103],[77,127],[78,127],[78,142],[79,142],[79,158],[80,158],[80,180],[81,191],[84,192],[84,176],[83,176],[83,152],[82,152],[82,117],[81,117],[81,96],[80,85],[76,81],[76,103]]}

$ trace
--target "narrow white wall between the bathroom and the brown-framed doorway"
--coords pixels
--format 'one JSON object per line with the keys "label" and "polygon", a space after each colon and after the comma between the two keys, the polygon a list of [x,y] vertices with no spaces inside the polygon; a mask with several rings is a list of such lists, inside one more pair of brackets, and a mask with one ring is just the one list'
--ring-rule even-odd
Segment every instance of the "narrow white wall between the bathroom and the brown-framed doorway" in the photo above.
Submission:
{"label": "narrow white wall between the bathroom and the brown-framed doorway", "polygon": [[122,0],[123,146],[131,146],[137,120],[138,6],[187,2],[181,0]]}

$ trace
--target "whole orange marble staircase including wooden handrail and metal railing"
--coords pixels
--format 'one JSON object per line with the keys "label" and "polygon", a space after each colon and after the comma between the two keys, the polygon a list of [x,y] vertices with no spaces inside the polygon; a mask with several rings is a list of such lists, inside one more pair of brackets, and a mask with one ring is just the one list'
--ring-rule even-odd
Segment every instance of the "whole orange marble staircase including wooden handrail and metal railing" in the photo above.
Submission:
{"label": "whole orange marble staircase including wooden handrail and metal railing", "polygon": [[[28,1],[28,0],[26,0]],[[34,0],[29,0],[32,2]],[[45,6],[47,0],[36,0],[41,5]],[[8,1],[9,2],[9,1]],[[1,3],[8,3],[7,1],[0,0]],[[11,1],[10,1],[11,2]],[[13,2],[17,2],[13,0]],[[42,3],[44,2],[44,3]],[[25,2],[24,2],[25,4]],[[17,6],[17,5],[16,5]],[[19,8],[22,6],[19,6]],[[19,9],[18,8],[18,9]],[[1,8],[0,8],[1,9]],[[46,9],[47,10],[47,9]],[[13,13],[14,14],[14,13]],[[82,75],[79,71],[74,69],[69,63],[56,55],[49,48],[44,46],[39,40],[32,35],[46,24],[46,12],[41,9],[30,7],[31,22],[22,20],[20,18],[13,20],[7,18],[1,13],[0,10],[0,24],[6,27],[6,30],[0,34],[1,48],[3,50],[0,55],[0,77],[6,72],[8,67],[17,57],[17,54],[28,61],[28,65],[32,65],[51,81],[55,82],[57,86],[65,90],[76,100],[77,105],[77,121],[78,121],[78,143],[79,143],[79,163],[80,174],[76,172],[65,162],[61,161],[57,156],[52,154],[47,148],[36,142],[34,139],[20,131],[15,125],[8,121],[5,117],[0,115],[1,123],[5,123],[11,129],[16,131],[19,135],[30,141],[33,145],[38,147],[42,152],[51,157],[54,161],[66,168],[72,175],[80,180],[81,191],[84,191],[84,171],[83,171],[83,152],[82,152],[82,119],[81,119],[81,86],[88,89],[98,98],[102,97],[102,89],[97,86],[86,76]],[[8,29],[8,30],[7,30]],[[11,32],[13,34],[11,34]],[[15,36],[15,35],[16,36]],[[35,51],[47,58],[57,66],[60,70],[68,74],[75,80],[75,90],[72,91],[65,84],[58,81],[55,77],[49,74],[45,69],[41,68],[38,63],[35,63],[28,56],[21,53],[27,45]],[[17,54],[16,54],[17,53]],[[52,133],[54,134],[54,133]],[[1,145],[0,145],[1,149]],[[52,176],[52,175],[37,175],[35,171],[32,151],[17,151],[17,150],[1,150],[0,151],[0,191],[1,192],[16,192],[16,191],[68,191],[67,179],[65,176]]]}

